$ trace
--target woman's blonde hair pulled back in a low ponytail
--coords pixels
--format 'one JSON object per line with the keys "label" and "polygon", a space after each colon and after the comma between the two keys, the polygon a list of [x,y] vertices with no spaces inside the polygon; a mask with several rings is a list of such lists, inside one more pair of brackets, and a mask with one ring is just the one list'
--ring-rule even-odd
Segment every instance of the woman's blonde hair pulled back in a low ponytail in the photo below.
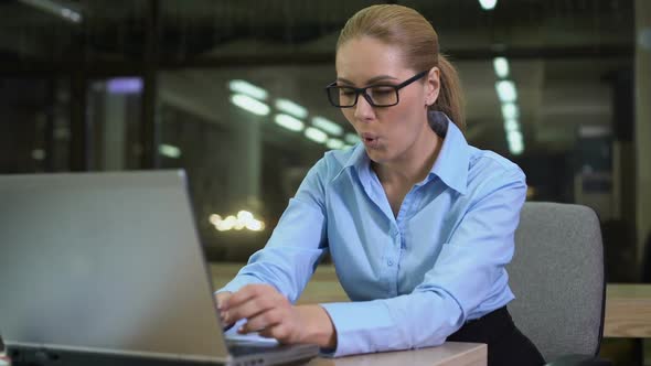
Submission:
{"label": "woman's blonde hair pulled back in a low ponytail", "polygon": [[356,12],[348,20],[337,41],[337,50],[345,42],[371,36],[403,51],[407,67],[416,72],[440,69],[440,90],[430,110],[442,111],[465,130],[463,97],[455,66],[439,53],[438,34],[431,24],[416,10],[396,6],[372,6]]}

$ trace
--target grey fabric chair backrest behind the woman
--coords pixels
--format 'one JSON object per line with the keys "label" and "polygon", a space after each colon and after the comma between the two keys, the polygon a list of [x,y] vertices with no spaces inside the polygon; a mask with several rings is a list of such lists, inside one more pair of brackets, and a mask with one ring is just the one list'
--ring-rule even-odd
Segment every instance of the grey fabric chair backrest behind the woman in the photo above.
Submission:
{"label": "grey fabric chair backrest behind the woman", "polygon": [[604,330],[604,247],[586,206],[525,203],[508,267],[509,312],[547,362],[596,355]]}

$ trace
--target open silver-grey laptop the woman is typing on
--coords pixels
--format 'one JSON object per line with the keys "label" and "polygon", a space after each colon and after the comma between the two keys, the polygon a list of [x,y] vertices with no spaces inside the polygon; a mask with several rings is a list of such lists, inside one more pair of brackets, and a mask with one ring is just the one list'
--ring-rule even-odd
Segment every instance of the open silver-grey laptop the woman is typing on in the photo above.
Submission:
{"label": "open silver-grey laptop the woman is typing on", "polygon": [[0,334],[42,365],[300,364],[224,336],[183,171],[0,176]]}

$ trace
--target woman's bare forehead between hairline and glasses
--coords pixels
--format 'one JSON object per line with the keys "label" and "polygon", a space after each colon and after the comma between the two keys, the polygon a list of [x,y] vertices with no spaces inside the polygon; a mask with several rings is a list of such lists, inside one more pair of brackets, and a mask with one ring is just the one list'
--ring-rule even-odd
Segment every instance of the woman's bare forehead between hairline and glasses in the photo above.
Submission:
{"label": "woman's bare forehead between hairline and glasses", "polygon": [[409,73],[403,61],[402,50],[373,37],[352,39],[337,51],[337,76],[355,83],[389,75],[401,77]]}

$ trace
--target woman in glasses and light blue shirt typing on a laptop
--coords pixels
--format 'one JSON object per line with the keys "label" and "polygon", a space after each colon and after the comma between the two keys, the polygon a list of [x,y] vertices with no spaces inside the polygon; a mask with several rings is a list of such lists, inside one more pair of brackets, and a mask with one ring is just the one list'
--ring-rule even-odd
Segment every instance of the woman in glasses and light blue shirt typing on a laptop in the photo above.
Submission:
{"label": "woman in glasses and light blue shirt typing on a laptop", "polygon": [[[266,247],[217,291],[225,324],[333,356],[453,340],[488,343],[489,365],[544,363],[505,308],[525,176],[467,144],[438,49],[405,7],[346,22],[327,90],[362,142],[317,162]],[[292,305],[326,251],[352,302]]]}

